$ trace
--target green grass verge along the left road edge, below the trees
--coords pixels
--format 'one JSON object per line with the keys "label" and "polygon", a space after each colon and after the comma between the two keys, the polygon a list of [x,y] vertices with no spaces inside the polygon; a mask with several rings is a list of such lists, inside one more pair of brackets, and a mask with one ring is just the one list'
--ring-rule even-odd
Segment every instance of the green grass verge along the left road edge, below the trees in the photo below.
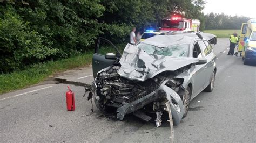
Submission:
{"label": "green grass verge along the left road edge, below the trees", "polygon": [[[126,44],[117,45],[120,52],[123,52]],[[103,53],[109,53],[110,48],[105,47]],[[53,74],[91,65],[93,51],[73,56],[68,59],[58,61],[48,61],[26,67],[22,71],[14,71],[9,74],[0,74],[0,95],[9,91],[29,87],[30,85],[37,84],[45,80],[45,78]]]}

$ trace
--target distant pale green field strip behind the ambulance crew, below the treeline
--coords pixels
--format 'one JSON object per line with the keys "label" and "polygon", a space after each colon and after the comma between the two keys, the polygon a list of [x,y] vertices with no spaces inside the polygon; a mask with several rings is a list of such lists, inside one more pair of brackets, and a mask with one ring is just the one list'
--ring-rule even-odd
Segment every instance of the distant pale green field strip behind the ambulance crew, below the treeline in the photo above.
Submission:
{"label": "distant pale green field strip behind the ambulance crew, below the treeline", "polygon": [[204,32],[214,34],[217,38],[229,38],[234,32],[239,35],[240,30],[205,30]]}

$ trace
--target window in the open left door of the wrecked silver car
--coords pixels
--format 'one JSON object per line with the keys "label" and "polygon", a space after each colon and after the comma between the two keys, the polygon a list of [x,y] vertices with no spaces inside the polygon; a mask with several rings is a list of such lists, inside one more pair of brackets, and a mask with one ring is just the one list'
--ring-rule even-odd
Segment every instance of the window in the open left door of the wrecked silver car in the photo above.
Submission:
{"label": "window in the open left door of the wrecked silver car", "polygon": [[107,53],[116,54],[117,50],[111,44],[109,44],[109,42],[106,42],[104,40],[100,40],[98,54],[106,55]]}

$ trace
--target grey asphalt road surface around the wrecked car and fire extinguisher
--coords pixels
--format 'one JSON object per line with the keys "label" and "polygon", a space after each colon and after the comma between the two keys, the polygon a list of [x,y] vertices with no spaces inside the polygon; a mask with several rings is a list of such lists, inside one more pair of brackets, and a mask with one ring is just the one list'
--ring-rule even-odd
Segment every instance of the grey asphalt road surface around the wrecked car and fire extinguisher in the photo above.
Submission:
{"label": "grey asphalt road surface around the wrecked car and fire extinguisher", "polygon": [[[177,142],[256,142],[256,66],[227,56],[228,39],[218,39],[217,76],[212,92],[201,92],[174,126]],[[170,126],[157,128],[128,115],[114,121],[95,109],[84,94],[91,67],[69,70],[57,81],[0,95],[0,142],[169,142]],[[66,111],[65,92],[75,92],[76,110]],[[87,95],[86,95],[87,96]],[[199,102],[200,101],[200,102]],[[91,114],[90,114],[91,113]]]}

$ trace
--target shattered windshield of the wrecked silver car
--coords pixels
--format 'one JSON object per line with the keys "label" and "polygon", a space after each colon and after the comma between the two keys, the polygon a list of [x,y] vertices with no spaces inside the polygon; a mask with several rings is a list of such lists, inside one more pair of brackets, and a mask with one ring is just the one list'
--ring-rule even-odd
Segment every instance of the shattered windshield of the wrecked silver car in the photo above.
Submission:
{"label": "shattered windshield of the wrecked silver car", "polygon": [[147,54],[163,55],[163,56],[188,56],[189,44],[176,44],[167,47],[157,47],[150,44],[140,43],[137,45],[138,48],[145,51]]}

